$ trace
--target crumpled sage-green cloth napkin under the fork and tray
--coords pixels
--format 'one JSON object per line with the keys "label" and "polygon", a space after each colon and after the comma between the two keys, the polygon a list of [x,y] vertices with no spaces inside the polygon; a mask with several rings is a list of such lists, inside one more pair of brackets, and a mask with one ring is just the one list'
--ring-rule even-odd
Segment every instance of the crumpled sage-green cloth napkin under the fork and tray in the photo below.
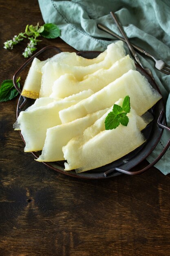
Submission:
{"label": "crumpled sage-green cloth napkin under the fork and tray", "polygon": [[[116,13],[130,41],[170,65],[170,1],[169,0],[39,0],[45,23],[55,23],[61,29],[61,38],[78,51],[104,51],[116,39],[97,28],[97,23],[120,34],[110,16]],[[127,54],[128,48],[125,44]],[[155,78],[166,104],[166,118],[170,126],[170,75],[154,67],[154,62],[139,56]],[[170,139],[164,131],[161,141],[147,158],[152,162]],[[155,165],[165,175],[170,173],[170,148]]]}

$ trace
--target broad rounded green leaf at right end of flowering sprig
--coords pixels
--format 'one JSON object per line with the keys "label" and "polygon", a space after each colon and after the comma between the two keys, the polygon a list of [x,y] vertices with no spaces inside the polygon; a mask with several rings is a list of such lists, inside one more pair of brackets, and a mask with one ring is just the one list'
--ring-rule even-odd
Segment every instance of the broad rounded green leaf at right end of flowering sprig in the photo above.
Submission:
{"label": "broad rounded green leaf at right end of flowering sprig", "polygon": [[45,38],[56,38],[60,36],[60,29],[53,23],[44,24],[44,31],[40,33]]}

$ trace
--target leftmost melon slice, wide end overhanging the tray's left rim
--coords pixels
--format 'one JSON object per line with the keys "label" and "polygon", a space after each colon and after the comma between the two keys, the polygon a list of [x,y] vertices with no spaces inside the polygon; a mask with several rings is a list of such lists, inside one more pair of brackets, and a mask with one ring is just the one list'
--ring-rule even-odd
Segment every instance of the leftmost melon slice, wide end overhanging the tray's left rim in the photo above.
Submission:
{"label": "leftmost melon slice, wide end overhanging the tray's left rim", "polygon": [[[88,90],[88,95],[93,93]],[[86,92],[72,95],[69,98],[53,101],[46,106],[36,107],[28,111],[20,112],[17,122],[14,124],[16,130],[20,127],[21,134],[24,138],[26,146],[25,152],[42,150],[46,137],[46,129],[61,124],[59,111],[67,108],[83,97],[86,97]]]}

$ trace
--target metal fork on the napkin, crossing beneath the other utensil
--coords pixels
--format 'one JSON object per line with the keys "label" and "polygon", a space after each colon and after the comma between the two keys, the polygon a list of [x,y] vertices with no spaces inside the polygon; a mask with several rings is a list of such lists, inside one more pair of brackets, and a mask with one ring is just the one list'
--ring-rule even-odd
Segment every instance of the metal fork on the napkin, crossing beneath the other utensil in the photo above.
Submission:
{"label": "metal fork on the napkin, crossing beneath the other utensil", "polygon": [[[114,36],[115,38],[118,38],[119,40],[122,40],[124,42],[126,42],[126,40],[121,37],[121,36],[118,36],[115,32],[113,32],[111,29],[109,29],[108,27],[102,25],[102,24],[97,24],[97,27],[99,29],[102,29],[103,31],[105,31],[106,33]],[[164,61],[162,60],[157,60],[154,56],[152,56],[150,53],[146,52],[146,50],[144,50],[143,48],[137,46],[137,45],[134,45],[133,43],[131,43],[131,45],[138,51],[138,52],[141,52],[142,54],[145,54],[146,56],[152,58],[152,60],[155,61],[155,67],[157,70],[169,75],[170,74],[170,66],[167,65]]]}

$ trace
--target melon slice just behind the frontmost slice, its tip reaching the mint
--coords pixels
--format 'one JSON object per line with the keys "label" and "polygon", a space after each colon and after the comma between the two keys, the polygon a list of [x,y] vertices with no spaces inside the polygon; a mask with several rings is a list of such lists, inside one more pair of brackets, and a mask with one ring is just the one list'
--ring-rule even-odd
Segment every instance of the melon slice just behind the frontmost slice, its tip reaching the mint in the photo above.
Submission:
{"label": "melon slice just behind the frontmost slice, its tip reaching the mint", "polygon": [[91,126],[108,109],[99,110],[93,114],[76,119],[68,124],[61,124],[47,129],[46,139],[42,154],[37,159],[39,162],[51,162],[64,160],[62,147],[65,146],[73,137],[81,135],[82,132]]}

